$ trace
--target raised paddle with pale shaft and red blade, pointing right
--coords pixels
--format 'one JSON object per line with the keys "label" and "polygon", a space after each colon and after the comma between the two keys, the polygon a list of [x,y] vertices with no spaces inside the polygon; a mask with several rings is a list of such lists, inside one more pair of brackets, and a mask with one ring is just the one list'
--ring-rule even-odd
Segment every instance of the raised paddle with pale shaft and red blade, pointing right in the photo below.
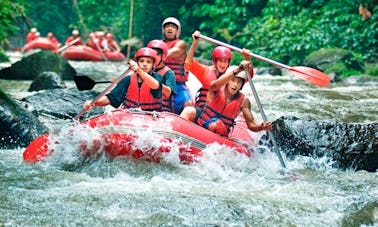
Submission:
{"label": "raised paddle with pale shaft and red blade, pointing right", "polygon": [[[242,49],[240,49],[238,47],[234,47],[232,45],[229,45],[227,43],[215,40],[213,38],[210,38],[210,37],[207,37],[207,36],[204,36],[204,35],[200,35],[200,38],[202,38],[202,39],[204,39],[206,41],[215,43],[215,44],[220,45],[220,46],[228,47],[231,50],[242,52]],[[331,81],[331,79],[329,78],[329,76],[327,76],[325,73],[320,72],[319,70],[316,70],[316,69],[313,69],[313,68],[310,68],[310,67],[306,67],[306,66],[294,66],[294,67],[291,67],[291,66],[287,66],[287,65],[284,65],[282,63],[273,61],[271,59],[262,57],[260,55],[253,54],[253,53],[250,53],[250,56],[254,57],[256,59],[259,59],[261,61],[268,62],[268,63],[270,63],[272,65],[278,66],[280,68],[288,69],[288,70],[290,70],[290,72],[294,76],[297,76],[298,78],[300,78],[302,80],[305,80],[305,81],[310,82],[312,84],[318,85],[320,87],[326,87],[326,86],[328,86],[329,83],[330,83],[330,81]]]}

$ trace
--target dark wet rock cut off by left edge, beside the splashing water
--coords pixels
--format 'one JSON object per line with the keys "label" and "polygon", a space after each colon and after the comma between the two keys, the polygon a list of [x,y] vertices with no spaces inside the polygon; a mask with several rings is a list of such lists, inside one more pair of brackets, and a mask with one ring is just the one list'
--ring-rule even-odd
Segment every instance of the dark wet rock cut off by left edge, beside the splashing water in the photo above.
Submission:
{"label": "dark wet rock cut off by left edge, beside the splashing water", "polygon": [[46,127],[22,105],[0,90],[0,148],[15,149],[27,146]]}

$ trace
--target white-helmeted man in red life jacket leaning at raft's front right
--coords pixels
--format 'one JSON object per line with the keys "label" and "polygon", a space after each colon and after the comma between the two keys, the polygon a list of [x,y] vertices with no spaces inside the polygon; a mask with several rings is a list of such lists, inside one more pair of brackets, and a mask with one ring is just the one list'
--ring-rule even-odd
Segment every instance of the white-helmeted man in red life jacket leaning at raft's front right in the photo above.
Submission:
{"label": "white-helmeted man in red life jacket leaning at raft's front right", "polygon": [[[230,66],[222,76],[211,81],[206,105],[197,120],[199,125],[222,136],[228,136],[236,117],[243,113],[251,131],[272,129],[271,122],[258,123],[254,119],[251,112],[251,102],[240,92],[247,81],[246,70],[250,67],[252,67],[251,62],[243,60],[239,66]],[[187,107],[184,111],[191,113],[192,119],[194,119],[195,108]]]}

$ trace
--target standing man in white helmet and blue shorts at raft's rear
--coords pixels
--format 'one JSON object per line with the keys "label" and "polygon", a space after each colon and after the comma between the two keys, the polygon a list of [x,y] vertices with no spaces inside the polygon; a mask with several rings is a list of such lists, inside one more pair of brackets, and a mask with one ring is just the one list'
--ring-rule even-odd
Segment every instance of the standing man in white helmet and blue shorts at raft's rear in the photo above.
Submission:
{"label": "standing man in white helmet and blue shorts at raft's rear", "polygon": [[181,34],[181,24],[174,17],[166,18],[162,23],[163,41],[168,46],[168,55],[165,65],[167,65],[176,76],[177,94],[174,96],[173,105],[176,114],[180,114],[186,106],[193,106],[192,96],[186,81],[188,73],[184,69],[186,58],[186,43],[179,39]]}

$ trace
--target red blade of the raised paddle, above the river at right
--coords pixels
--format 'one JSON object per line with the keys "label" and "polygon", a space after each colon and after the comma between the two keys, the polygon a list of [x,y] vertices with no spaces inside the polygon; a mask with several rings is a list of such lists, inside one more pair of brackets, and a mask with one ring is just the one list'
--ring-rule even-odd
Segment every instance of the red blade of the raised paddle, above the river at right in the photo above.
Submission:
{"label": "red blade of the raised paddle, above the river at right", "polygon": [[294,76],[320,87],[327,87],[331,82],[331,78],[327,74],[310,67],[294,66],[290,67],[289,70]]}

